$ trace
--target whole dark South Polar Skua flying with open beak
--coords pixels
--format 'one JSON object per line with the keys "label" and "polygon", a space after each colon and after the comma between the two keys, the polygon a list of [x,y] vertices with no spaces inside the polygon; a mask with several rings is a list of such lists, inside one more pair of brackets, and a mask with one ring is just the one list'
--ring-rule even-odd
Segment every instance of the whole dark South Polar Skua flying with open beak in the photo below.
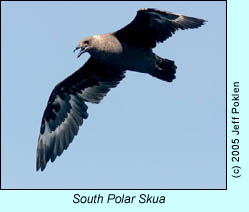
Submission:
{"label": "whole dark South Polar Skua flying with open beak", "polygon": [[179,29],[202,26],[203,19],[145,8],[131,23],[113,33],[94,35],[79,42],[78,57],[90,58],[53,89],[44,111],[36,154],[36,170],[43,171],[72,142],[88,117],[86,102],[98,104],[125,77],[127,70],[149,74],[166,82],[175,79],[172,60],[153,53],[156,44]]}

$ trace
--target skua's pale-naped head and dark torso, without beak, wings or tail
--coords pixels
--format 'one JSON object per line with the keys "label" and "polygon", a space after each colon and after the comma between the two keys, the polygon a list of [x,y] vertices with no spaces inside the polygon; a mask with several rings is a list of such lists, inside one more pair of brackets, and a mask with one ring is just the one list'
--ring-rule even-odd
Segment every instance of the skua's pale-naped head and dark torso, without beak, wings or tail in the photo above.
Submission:
{"label": "skua's pale-naped head and dark torso, without beak, wings or tail", "polygon": [[88,53],[102,64],[119,70],[142,73],[148,73],[155,67],[151,48],[120,42],[114,33],[94,35],[84,40],[90,40],[94,48],[89,49]]}

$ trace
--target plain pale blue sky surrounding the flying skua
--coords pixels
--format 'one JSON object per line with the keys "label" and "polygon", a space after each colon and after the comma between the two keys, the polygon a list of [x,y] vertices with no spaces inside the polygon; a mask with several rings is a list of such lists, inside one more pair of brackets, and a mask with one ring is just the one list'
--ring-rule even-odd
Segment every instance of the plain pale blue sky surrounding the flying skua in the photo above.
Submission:
{"label": "plain pale blue sky surrounding the flying skua", "polygon": [[[89,57],[73,49],[144,7],[208,20],[154,49],[176,62],[176,80],[128,72],[36,172],[48,97]],[[225,188],[225,2],[4,2],[1,12],[3,188]]]}

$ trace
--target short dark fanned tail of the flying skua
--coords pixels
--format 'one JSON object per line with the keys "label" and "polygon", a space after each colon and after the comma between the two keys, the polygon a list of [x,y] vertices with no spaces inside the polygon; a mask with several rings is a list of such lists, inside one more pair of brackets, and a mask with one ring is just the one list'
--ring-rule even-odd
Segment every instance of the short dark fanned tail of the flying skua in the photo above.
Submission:
{"label": "short dark fanned tail of the flying skua", "polygon": [[165,58],[161,58],[157,55],[155,55],[156,59],[156,68],[151,73],[153,77],[156,77],[158,79],[172,82],[173,79],[175,79],[175,73],[176,73],[176,65],[175,62],[172,60],[168,60]]}

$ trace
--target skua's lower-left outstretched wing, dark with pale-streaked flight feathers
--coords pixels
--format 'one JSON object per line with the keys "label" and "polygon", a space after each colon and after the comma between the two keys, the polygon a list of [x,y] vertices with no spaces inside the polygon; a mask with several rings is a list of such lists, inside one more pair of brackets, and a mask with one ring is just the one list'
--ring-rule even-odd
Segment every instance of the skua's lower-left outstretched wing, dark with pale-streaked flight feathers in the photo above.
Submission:
{"label": "skua's lower-left outstretched wing, dark with pale-streaked flight feathers", "polygon": [[85,102],[99,103],[110,88],[124,78],[124,71],[111,70],[90,58],[78,71],[55,86],[44,111],[36,154],[36,170],[43,171],[67,149],[83,119]]}

